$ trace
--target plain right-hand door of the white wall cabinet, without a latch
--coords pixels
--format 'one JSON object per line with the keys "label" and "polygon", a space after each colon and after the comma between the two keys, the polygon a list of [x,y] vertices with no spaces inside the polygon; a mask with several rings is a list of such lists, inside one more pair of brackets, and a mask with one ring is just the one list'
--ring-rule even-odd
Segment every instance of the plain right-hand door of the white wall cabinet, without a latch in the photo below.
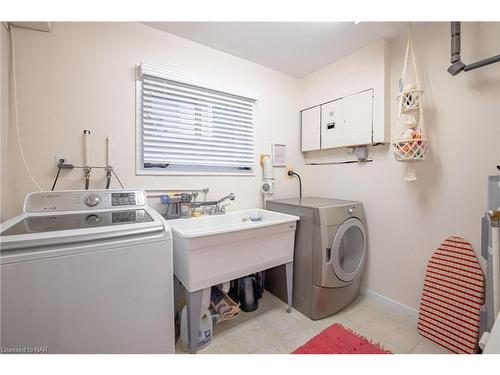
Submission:
{"label": "plain right-hand door of the white wall cabinet, without a latch", "polygon": [[346,96],[343,102],[343,146],[372,143],[373,89]]}

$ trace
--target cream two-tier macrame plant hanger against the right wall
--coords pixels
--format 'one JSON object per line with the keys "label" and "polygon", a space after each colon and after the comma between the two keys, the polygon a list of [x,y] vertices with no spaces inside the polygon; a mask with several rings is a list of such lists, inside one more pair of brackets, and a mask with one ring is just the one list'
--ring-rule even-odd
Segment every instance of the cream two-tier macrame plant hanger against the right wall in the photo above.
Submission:
{"label": "cream two-tier macrame plant hanger against the right wall", "polygon": [[[406,77],[410,52],[415,83],[408,83]],[[392,142],[394,157],[396,160],[406,163],[405,181],[417,180],[416,163],[424,160],[427,154],[428,140],[424,129],[423,93],[424,91],[418,79],[410,25],[403,72],[399,81],[398,126],[400,133],[398,138]]]}

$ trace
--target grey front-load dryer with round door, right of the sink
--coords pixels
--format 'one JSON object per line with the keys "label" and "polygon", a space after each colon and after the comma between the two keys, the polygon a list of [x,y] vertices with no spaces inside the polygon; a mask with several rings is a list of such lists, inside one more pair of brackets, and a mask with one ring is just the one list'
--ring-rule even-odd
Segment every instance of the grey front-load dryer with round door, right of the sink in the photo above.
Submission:
{"label": "grey front-load dryer with round door, right of the sink", "polygon": [[[300,216],[295,232],[293,307],[322,319],[358,295],[366,261],[366,218],[360,202],[303,197],[269,200],[266,209]],[[266,271],[266,288],[286,301],[282,266]]]}

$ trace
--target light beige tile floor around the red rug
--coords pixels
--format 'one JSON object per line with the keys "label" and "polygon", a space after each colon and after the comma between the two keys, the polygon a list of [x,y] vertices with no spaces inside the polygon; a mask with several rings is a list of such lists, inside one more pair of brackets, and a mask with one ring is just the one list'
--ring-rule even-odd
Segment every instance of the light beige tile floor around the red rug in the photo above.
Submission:
{"label": "light beige tile floor around the red rug", "polygon": [[[291,353],[334,323],[381,343],[393,353],[450,353],[420,336],[414,317],[395,311],[369,296],[360,295],[345,310],[313,321],[296,310],[288,314],[286,305],[267,291],[259,301],[257,311],[242,312],[236,319],[216,325],[212,343],[199,353]],[[179,343],[176,352],[184,353]]]}

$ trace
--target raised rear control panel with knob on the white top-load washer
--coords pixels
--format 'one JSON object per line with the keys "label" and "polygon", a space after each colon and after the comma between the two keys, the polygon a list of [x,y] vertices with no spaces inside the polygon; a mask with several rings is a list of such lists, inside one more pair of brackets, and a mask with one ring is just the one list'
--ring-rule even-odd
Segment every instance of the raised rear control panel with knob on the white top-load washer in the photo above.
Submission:
{"label": "raised rear control panel with knob on the white top-load washer", "polygon": [[31,193],[24,201],[24,212],[102,210],[146,205],[141,190],[67,190]]}

